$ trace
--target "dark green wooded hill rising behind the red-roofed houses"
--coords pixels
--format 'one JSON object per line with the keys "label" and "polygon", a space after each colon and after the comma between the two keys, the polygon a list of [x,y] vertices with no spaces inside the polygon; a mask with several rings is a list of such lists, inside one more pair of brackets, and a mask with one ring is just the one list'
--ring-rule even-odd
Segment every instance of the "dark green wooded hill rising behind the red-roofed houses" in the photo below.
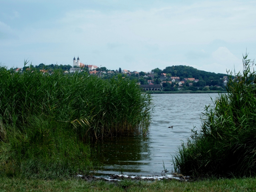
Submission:
{"label": "dark green wooded hill rising behind the red-roofed houses", "polygon": [[160,70],[159,68],[153,69],[155,73],[158,75],[161,75],[161,73],[170,74],[170,76],[177,76],[177,77],[184,77],[184,78],[195,78],[199,79],[202,77],[203,79],[213,77],[214,79],[216,77],[223,78],[223,76],[227,76],[227,74],[223,73],[212,73],[212,72],[206,72],[203,70],[198,70],[193,67],[185,66],[185,65],[178,65],[178,66],[172,66],[172,67],[166,67],[164,70]]}

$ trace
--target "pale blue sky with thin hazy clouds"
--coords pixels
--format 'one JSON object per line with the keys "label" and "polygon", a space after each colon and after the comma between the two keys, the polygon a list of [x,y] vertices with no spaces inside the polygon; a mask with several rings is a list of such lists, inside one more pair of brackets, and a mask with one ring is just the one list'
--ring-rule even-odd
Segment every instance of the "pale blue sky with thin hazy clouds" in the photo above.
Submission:
{"label": "pale blue sky with thin hazy clouds", "polygon": [[0,63],[226,73],[256,58],[256,1],[0,0]]}

